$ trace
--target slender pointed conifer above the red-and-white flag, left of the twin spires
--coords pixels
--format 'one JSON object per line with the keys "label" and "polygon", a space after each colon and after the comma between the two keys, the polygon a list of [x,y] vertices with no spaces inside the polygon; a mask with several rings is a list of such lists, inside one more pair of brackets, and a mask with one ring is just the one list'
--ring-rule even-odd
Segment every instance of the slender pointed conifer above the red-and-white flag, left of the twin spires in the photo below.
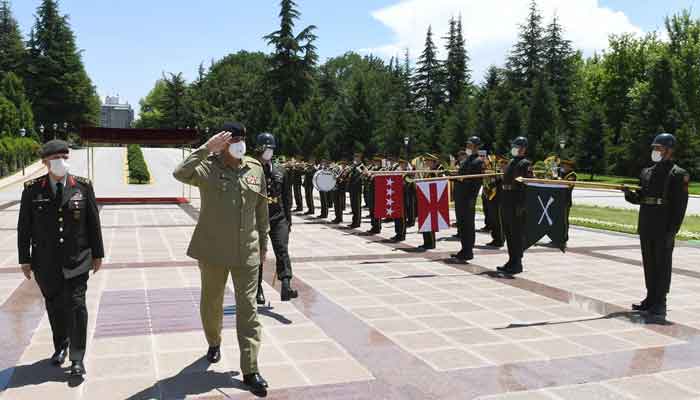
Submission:
{"label": "slender pointed conifer above the red-and-white flag, left of the twin spires", "polygon": [[437,59],[437,48],[433,42],[432,27],[428,27],[425,37],[425,49],[418,59],[418,68],[414,76],[414,92],[418,108],[428,121],[433,121],[435,113],[444,103],[443,74]]}

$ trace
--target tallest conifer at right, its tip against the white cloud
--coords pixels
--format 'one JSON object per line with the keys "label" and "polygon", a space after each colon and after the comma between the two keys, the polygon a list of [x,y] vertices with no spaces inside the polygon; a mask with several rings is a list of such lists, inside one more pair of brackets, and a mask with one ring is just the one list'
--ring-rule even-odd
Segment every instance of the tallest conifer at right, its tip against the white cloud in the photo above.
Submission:
{"label": "tallest conifer at right, its tip against the white cloud", "polygon": [[530,2],[527,21],[520,26],[518,42],[508,57],[510,79],[516,89],[531,90],[543,69],[544,28],[536,0]]}

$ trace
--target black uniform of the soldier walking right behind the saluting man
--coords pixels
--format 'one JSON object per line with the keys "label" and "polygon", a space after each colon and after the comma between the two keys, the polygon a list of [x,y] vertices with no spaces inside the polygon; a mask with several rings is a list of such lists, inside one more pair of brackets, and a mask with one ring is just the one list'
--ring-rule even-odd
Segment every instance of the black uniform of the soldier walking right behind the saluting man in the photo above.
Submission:
{"label": "black uniform of the soldier walking right behind the saluting man", "polygon": [[[284,284],[292,279],[292,262],[289,259],[289,231],[292,227],[292,194],[287,171],[271,162],[263,164],[267,182],[268,213],[270,216],[270,242],[275,252],[277,278]],[[262,294],[262,266],[258,277],[258,294]],[[265,303],[264,298],[258,300]],[[283,287],[282,300],[286,301]],[[296,296],[293,296],[296,297]],[[260,303],[260,301],[259,301]]]}

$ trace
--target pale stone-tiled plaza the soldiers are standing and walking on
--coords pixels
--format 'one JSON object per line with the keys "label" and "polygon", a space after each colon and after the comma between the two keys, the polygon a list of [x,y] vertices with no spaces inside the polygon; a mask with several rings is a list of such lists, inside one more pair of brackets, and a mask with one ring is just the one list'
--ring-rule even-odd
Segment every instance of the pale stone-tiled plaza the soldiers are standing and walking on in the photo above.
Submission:
{"label": "pale stone-tiled plaza the soldiers are standing and walking on", "polygon": [[[46,361],[53,349],[41,295],[15,265],[18,206],[0,204],[0,398],[250,398],[232,287],[222,362],[203,358],[199,272],[184,254],[197,207],[102,209],[107,257],[89,282],[88,375],[76,385]],[[673,324],[649,325],[628,312],[643,296],[636,238],[572,229],[566,254],[530,249],[511,280],[493,274],[505,250],[479,247],[473,263],[451,263],[453,233],[420,253],[415,232],[403,244],[386,240],[391,224],[367,236],[295,217],[300,298],[279,302],[274,260],[266,266],[268,397],[700,399],[700,249],[676,249]]]}

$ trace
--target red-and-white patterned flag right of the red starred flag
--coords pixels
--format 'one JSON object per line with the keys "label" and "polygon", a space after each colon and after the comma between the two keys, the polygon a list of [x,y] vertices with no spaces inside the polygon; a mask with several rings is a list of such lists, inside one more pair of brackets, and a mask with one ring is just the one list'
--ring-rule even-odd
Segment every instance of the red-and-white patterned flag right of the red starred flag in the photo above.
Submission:
{"label": "red-and-white patterned flag right of the red starred flag", "polygon": [[447,180],[418,182],[418,231],[438,232],[450,226]]}

